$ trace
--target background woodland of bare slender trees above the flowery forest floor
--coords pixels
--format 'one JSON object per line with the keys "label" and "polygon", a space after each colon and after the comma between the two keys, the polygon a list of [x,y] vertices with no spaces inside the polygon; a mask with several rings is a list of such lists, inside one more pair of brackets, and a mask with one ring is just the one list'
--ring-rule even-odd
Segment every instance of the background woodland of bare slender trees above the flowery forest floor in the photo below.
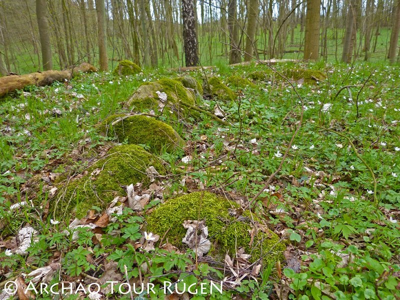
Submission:
{"label": "background woodland of bare slender trees above the flowery forest floor", "polygon": [[400,0],[0,0],[0,74],[398,60]]}

